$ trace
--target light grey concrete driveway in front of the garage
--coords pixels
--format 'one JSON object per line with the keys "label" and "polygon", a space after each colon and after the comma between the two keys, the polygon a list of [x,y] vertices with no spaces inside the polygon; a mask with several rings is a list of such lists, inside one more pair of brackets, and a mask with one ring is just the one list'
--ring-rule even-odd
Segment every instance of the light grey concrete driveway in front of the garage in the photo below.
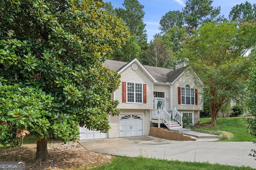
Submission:
{"label": "light grey concrete driveway in front of the garage", "polygon": [[136,136],[78,141],[84,148],[117,156],[209,162],[256,168],[256,160],[248,156],[256,145],[252,142],[174,141]]}

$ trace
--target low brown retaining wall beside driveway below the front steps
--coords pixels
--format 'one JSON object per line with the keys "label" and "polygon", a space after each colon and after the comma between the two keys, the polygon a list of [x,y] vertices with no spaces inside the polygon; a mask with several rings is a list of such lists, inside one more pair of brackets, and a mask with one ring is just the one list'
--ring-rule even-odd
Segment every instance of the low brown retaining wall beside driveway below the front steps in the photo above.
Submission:
{"label": "low brown retaining wall beside driveway below the front steps", "polygon": [[191,136],[186,136],[180,132],[172,132],[166,128],[150,127],[149,136],[167,140],[196,140]]}

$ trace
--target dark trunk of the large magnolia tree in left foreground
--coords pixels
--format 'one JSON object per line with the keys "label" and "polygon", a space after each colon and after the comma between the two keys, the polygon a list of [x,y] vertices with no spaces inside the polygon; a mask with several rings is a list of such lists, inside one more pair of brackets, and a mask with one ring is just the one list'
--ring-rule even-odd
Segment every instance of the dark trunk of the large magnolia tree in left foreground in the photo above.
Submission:
{"label": "dark trunk of the large magnolia tree in left foreground", "polygon": [[47,151],[47,139],[44,138],[37,138],[36,142],[36,162],[45,160],[49,157],[48,151]]}

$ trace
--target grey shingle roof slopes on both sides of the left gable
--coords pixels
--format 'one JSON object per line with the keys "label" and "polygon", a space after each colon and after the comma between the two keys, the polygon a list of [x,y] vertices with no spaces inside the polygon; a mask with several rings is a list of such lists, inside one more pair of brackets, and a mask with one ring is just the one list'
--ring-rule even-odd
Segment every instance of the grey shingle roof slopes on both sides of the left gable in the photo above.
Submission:
{"label": "grey shingle roof slopes on both sides of the left gable", "polygon": [[[114,61],[107,59],[103,65],[112,69],[114,71],[119,71],[125,67],[128,63],[123,61]],[[154,67],[149,65],[144,65],[148,72],[160,83],[172,83],[183,71],[184,68],[173,70],[162,67]],[[185,68],[186,69],[186,68]]]}

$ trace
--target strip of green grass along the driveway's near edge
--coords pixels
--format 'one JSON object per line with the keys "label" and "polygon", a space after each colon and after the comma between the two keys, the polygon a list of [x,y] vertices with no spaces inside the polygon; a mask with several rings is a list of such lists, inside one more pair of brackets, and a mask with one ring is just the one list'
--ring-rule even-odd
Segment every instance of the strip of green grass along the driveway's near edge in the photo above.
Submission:
{"label": "strip of green grass along the driveway's near edge", "polygon": [[181,162],[170,160],[158,160],[143,157],[121,157],[112,158],[110,164],[95,168],[95,170],[252,170],[250,167],[237,167],[207,162]]}

